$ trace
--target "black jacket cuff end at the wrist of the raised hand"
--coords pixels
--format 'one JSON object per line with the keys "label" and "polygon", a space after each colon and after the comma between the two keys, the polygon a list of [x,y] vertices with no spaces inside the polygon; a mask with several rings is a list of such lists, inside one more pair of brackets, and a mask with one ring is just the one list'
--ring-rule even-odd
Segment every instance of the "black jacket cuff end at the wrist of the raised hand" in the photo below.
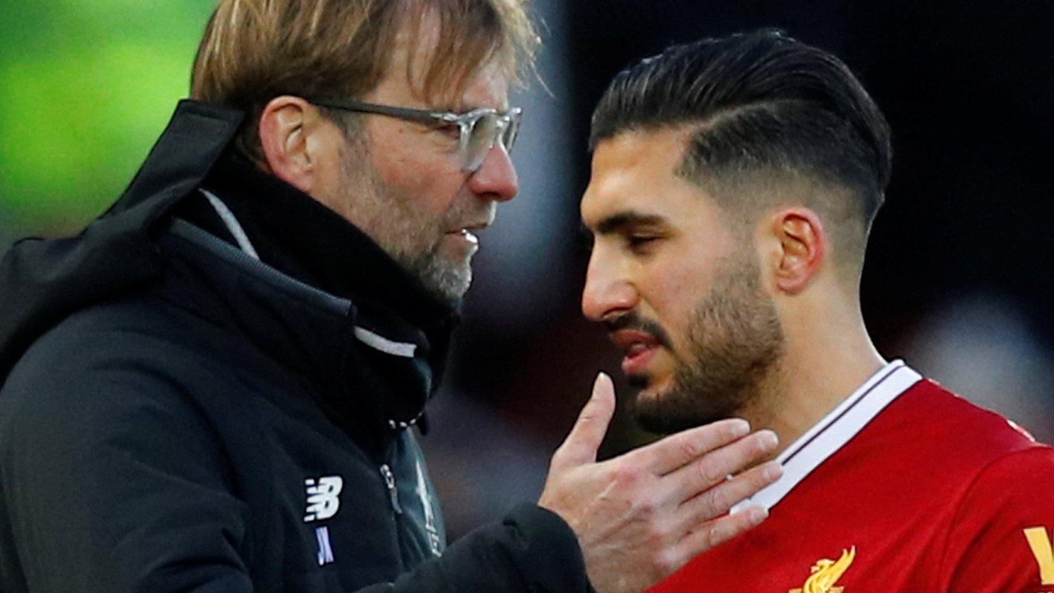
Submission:
{"label": "black jacket cuff end at the wrist of the raised hand", "polygon": [[394,584],[358,593],[587,593],[592,591],[574,532],[559,516],[521,504],[501,523],[458,539]]}

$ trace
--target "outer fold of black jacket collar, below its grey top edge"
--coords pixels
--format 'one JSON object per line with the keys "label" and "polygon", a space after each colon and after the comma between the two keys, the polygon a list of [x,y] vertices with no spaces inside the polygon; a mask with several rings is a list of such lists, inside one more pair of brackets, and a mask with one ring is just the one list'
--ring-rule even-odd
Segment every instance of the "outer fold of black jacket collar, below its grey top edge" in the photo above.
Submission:
{"label": "outer fold of black jacket collar, below its grey top edge", "polygon": [[163,298],[246,336],[299,374],[338,425],[379,439],[422,418],[443,374],[452,318],[423,330],[390,310],[306,284],[179,218],[159,246],[169,262]]}

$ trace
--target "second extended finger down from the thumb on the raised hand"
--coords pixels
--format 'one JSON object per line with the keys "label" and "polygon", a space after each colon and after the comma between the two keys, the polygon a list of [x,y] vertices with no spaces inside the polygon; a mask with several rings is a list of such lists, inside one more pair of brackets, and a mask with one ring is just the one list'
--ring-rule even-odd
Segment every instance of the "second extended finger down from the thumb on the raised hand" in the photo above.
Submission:
{"label": "second extended finger down from the thumb on the raised hand", "polygon": [[[727,476],[764,460],[778,444],[776,433],[759,431],[671,472],[664,482],[670,489],[671,498],[681,503],[723,482]],[[734,500],[733,504],[744,498],[746,496]]]}

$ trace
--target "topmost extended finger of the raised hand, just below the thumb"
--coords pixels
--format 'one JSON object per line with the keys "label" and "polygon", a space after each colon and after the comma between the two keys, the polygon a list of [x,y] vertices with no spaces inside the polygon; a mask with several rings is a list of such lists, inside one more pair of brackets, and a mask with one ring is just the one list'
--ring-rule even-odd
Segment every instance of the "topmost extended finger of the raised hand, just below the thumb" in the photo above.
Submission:
{"label": "topmost extended finger of the raised hand, just below the thumb", "polygon": [[[666,437],[661,441],[628,453],[627,458],[643,467],[663,476],[703,457],[715,448],[724,446],[750,432],[750,424],[743,419],[721,420]],[[722,478],[727,474],[722,474]]]}

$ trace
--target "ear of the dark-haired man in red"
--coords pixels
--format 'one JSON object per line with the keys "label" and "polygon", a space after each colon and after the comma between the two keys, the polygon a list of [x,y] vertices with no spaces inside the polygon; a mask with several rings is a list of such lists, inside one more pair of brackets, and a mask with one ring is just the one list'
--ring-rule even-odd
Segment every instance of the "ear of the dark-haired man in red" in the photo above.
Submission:
{"label": "ear of the dark-haired man in red", "polygon": [[779,243],[776,286],[797,294],[808,286],[827,256],[827,235],[820,217],[808,208],[785,208],[773,218],[773,234]]}

